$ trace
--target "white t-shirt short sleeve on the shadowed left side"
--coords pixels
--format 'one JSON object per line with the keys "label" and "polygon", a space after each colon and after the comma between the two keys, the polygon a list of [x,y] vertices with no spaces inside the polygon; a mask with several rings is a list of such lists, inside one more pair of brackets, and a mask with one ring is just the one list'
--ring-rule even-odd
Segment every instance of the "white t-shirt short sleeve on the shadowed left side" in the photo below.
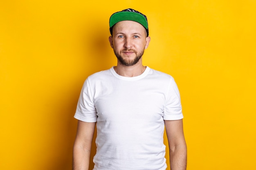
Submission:
{"label": "white t-shirt short sleeve on the shadowed left side", "polygon": [[80,93],[74,118],[85,122],[96,122],[97,111],[94,106],[89,80],[86,79]]}

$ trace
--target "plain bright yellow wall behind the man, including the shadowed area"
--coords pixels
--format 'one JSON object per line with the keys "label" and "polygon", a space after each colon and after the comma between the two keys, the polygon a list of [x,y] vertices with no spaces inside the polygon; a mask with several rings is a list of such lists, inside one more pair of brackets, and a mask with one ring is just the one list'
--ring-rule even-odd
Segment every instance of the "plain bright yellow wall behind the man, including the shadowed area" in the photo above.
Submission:
{"label": "plain bright yellow wall behind the man, including the shadowed area", "polygon": [[179,86],[187,169],[256,169],[255,0],[1,0],[1,170],[71,169],[81,86],[116,64],[108,20],[129,7],[148,16],[144,65]]}

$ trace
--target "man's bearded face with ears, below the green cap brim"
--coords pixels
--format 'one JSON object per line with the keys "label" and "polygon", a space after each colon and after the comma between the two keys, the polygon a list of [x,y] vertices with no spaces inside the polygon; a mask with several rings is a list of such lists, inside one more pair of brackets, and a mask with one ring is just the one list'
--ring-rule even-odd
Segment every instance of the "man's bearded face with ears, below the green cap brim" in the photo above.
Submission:
{"label": "man's bearded face with ears, below the green cap brim", "polygon": [[121,21],[115,24],[109,41],[119,64],[132,66],[140,61],[150,42],[150,37],[146,35],[146,29],[138,22]]}

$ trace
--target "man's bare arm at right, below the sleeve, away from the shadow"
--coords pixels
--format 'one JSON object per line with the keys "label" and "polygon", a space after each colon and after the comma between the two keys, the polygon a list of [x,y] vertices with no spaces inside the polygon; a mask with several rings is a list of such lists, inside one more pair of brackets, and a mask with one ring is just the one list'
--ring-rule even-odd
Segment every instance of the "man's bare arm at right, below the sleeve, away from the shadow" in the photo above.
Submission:
{"label": "man's bare arm at right, below the sleeve, away from the shadow", "polygon": [[171,170],[186,170],[186,141],[183,121],[165,120],[166,135],[170,151]]}

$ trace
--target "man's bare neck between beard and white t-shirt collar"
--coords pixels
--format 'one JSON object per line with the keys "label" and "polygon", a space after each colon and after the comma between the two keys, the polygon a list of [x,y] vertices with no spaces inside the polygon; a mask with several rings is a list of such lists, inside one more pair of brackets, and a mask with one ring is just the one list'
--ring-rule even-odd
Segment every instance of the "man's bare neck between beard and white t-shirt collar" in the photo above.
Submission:
{"label": "man's bare neck between beard and white t-shirt collar", "polygon": [[141,75],[145,70],[146,66],[143,66],[141,63],[137,63],[133,66],[124,66],[117,63],[117,66],[114,67],[117,74],[124,77],[135,77]]}

